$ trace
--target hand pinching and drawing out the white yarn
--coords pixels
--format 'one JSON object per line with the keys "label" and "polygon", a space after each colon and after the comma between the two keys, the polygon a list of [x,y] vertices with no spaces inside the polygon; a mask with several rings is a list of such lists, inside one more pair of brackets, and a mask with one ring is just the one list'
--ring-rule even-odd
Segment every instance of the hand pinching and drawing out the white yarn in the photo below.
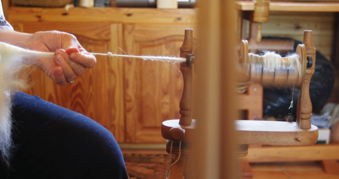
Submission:
{"label": "hand pinching and drawing out the white yarn", "polygon": [[41,52],[54,52],[54,60],[38,59],[36,66],[52,78],[58,85],[74,81],[84,73],[85,68],[93,68],[96,58],[87,52],[74,35],[47,31],[32,34],[27,41],[29,49]]}

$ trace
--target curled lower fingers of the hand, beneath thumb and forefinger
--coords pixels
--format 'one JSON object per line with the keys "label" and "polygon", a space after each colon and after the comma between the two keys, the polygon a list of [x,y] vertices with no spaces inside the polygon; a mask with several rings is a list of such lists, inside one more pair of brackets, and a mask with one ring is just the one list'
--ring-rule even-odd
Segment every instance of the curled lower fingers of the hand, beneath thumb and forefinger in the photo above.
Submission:
{"label": "curled lower fingers of the hand, beneath thumb and forefinger", "polygon": [[[65,68],[62,66],[62,69],[64,70],[64,73],[68,76],[66,76],[68,81],[75,80],[76,76],[81,75],[85,71],[85,67],[82,64],[73,62],[71,59],[69,59],[68,54],[63,49],[58,49],[55,52],[56,56],[61,55],[66,63],[64,63]],[[57,65],[59,65],[58,62],[56,62]],[[60,65],[59,65],[60,66]],[[73,73],[72,73],[73,72]],[[72,77],[72,75],[74,75]],[[70,80],[72,79],[72,80]]]}

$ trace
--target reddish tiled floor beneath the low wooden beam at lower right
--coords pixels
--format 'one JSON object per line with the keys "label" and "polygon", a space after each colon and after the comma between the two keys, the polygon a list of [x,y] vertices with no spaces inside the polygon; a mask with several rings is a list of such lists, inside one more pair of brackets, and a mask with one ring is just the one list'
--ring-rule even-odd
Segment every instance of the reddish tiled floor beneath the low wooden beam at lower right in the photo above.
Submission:
{"label": "reddish tiled floor beneath the low wooden beam at lower right", "polygon": [[320,162],[252,163],[251,167],[252,179],[339,179],[339,174],[326,174]]}

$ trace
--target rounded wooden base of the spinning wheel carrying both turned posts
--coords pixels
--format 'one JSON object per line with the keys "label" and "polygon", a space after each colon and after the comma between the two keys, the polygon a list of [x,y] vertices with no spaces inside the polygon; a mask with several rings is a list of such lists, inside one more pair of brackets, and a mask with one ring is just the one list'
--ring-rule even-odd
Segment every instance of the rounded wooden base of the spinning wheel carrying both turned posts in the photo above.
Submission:
{"label": "rounded wooden base of the spinning wheel carrying both turned posts", "polygon": [[[162,137],[171,141],[188,142],[195,128],[192,125],[180,125],[179,119],[164,121],[161,126]],[[238,144],[264,145],[312,145],[318,139],[318,127],[302,129],[295,122],[236,120]],[[173,130],[182,128],[182,131]]]}

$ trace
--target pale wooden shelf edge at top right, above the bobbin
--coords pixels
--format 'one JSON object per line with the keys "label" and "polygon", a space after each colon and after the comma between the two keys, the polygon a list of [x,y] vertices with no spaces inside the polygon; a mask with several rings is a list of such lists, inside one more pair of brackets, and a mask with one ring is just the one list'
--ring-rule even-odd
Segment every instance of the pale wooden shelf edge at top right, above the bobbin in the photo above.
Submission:
{"label": "pale wooden shelf edge at top right, above the bobbin", "polygon": [[[237,1],[237,9],[254,11],[253,1]],[[339,12],[339,2],[270,2],[270,11],[280,12]]]}

